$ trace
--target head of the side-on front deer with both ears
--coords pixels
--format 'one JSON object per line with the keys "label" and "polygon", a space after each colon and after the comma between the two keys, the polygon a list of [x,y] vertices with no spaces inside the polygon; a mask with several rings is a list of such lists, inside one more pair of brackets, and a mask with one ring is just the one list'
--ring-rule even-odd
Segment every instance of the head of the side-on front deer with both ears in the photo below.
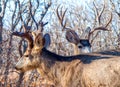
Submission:
{"label": "head of the side-on front deer with both ears", "polygon": [[[19,33],[13,33],[14,35],[23,37],[25,33],[22,33],[22,35],[20,35]],[[20,58],[20,60],[18,61],[18,63],[15,65],[15,68],[17,70],[20,70],[22,72],[31,70],[31,69],[36,69],[37,67],[39,67],[39,64],[41,64],[40,62],[42,62],[42,58],[40,58],[41,52],[43,48],[47,48],[50,45],[50,35],[49,34],[45,34],[43,36],[42,33],[31,33],[31,36],[28,35],[29,37],[31,37],[31,40],[28,40],[27,37],[25,37],[27,39],[28,43],[33,44],[32,47],[29,48],[29,52],[28,49],[26,49],[26,52],[24,53],[24,55]]]}

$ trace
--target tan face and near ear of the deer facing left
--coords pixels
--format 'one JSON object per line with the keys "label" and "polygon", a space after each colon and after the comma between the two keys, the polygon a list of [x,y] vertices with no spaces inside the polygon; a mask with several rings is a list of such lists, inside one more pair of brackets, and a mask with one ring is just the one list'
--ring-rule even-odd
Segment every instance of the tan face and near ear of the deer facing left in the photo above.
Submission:
{"label": "tan face and near ear of the deer facing left", "polygon": [[20,58],[18,63],[15,65],[15,68],[17,70],[25,72],[39,67],[42,60],[41,52],[42,52],[42,48],[45,45],[45,38],[46,35],[45,37],[43,37],[42,33],[39,33],[38,35],[34,36],[33,48],[31,48],[29,52],[28,50],[26,50],[23,57]]}

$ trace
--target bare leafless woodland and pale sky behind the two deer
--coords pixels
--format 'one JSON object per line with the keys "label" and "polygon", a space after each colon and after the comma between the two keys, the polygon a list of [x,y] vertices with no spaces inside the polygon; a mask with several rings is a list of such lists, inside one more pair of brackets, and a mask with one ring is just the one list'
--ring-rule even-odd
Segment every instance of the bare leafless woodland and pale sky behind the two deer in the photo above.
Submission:
{"label": "bare leafless woodland and pale sky behind the two deer", "polygon": [[[119,0],[0,0],[0,87],[39,87],[49,84],[36,71],[19,73],[14,64],[25,51],[25,40],[15,37],[12,32],[35,31],[51,35],[49,50],[61,55],[73,55],[73,47],[65,38],[66,30],[61,26],[56,14],[67,9],[63,22],[85,39],[87,28],[94,30],[104,26],[112,13],[112,21],[107,26],[110,31],[96,31],[92,42],[93,52],[119,49],[120,44],[120,1]],[[102,9],[103,13],[100,15]],[[62,10],[61,10],[62,9]],[[86,34],[87,33],[87,34]]]}

